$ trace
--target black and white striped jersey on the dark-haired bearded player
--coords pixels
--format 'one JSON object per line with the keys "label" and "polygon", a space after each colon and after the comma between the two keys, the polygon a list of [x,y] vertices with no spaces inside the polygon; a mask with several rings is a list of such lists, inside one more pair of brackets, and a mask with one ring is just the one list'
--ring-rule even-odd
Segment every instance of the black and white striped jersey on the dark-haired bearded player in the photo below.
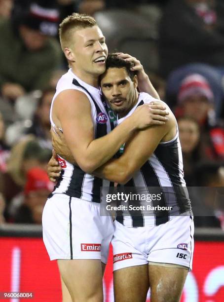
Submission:
{"label": "black and white striped jersey on the dark-haired bearded player", "polygon": [[[120,118],[118,124],[130,116],[138,106],[148,104],[153,100],[155,99],[149,94],[140,93],[135,107],[126,116]],[[136,171],[134,177],[123,187],[125,192],[127,192],[126,187],[134,188],[134,193],[141,196],[154,193],[155,189],[161,193],[154,201],[137,198],[134,205],[142,206],[138,211],[119,211],[116,220],[127,227],[158,226],[168,222],[174,216],[186,215],[188,212],[191,214],[178,128],[176,136],[169,142],[161,142],[141,169]],[[131,203],[132,201],[129,201],[129,205]],[[150,205],[151,210],[146,208],[147,205]],[[156,206],[169,210],[157,210]]]}

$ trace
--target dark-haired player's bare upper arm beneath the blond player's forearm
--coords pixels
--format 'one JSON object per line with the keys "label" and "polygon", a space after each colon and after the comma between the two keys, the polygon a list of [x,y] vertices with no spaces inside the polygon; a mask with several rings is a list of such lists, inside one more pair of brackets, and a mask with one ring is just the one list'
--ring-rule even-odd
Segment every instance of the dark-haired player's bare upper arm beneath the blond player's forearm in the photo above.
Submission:
{"label": "dark-haired player's bare upper arm beneath the blond player's forearm", "polygon": [[[126,144],[125,151],[118,159],[111,159],[93,172],[95,176],[119,184],[126,184],[148,160],[156,147],[169,132],[176,132],[176,121],[170,114],[163,126],[152,126],[140,131]],[[174,136],[174,135],[173,135]],[[170,138],[171,139],[171,138]]]}

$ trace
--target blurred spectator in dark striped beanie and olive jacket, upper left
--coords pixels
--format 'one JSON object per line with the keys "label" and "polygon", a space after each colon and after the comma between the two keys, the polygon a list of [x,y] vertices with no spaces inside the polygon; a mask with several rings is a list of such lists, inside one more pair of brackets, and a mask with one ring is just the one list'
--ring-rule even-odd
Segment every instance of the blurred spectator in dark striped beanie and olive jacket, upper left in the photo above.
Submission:
{"label": "blurred spectator in dark striped beanie and olive jacket, upper left", "polygon": [[0,109],[11,121],[14,101],[27,92],[44,89],[61,64],[57,9],[30,5],[27,13],[0,20]]}

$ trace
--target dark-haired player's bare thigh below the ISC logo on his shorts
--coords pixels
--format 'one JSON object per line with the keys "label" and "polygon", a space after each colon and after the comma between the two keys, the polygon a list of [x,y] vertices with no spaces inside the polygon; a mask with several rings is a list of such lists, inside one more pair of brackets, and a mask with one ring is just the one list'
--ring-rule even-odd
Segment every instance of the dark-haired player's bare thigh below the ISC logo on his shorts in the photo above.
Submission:
{"label": "dark-haired player's bare thigh below the ISC logo on his shorts", "polygon": [[149,264],[150,302],[179,302],[188,269]]}

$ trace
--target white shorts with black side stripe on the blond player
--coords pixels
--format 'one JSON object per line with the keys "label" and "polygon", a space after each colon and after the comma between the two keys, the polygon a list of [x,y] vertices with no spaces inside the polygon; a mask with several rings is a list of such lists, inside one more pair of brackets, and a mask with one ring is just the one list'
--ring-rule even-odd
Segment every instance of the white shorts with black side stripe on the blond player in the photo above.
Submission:
{"label": "white shorts with black side stripe on the blond player", "polygon": [[100,259],[107,263],[114,230],[100,204],[66,194],[48,198],[42,215],[43,241],[50,260]]}

